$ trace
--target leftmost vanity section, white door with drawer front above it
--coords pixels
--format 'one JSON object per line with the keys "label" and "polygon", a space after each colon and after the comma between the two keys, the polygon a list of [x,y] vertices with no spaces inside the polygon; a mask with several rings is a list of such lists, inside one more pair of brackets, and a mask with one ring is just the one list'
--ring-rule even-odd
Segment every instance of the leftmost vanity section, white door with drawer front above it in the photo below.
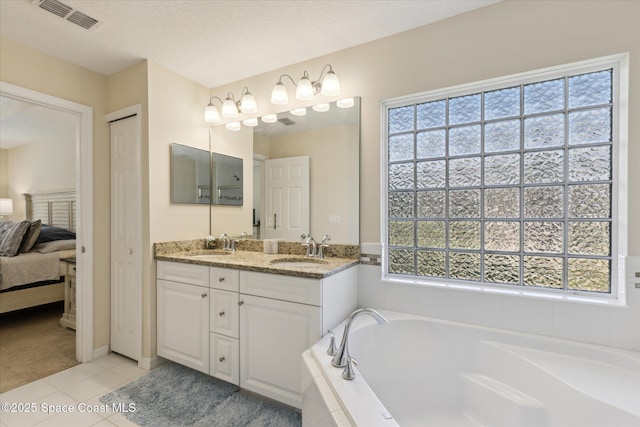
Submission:
{"label": "leftmost vanity section, white door with drawer front above it", "polygon": [[158,355],[209,373],[209,267],[158,261]]}

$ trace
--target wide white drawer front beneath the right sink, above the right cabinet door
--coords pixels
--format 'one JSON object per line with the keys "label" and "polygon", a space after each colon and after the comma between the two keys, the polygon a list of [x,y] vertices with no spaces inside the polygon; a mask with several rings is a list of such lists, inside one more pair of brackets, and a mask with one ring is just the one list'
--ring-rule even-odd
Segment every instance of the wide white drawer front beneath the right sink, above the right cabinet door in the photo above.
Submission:
{"label": "wide white drawer front beneath the right sink, above the right cabinet door", "polygon": [[322,303],[322,280],[241,271],[240,292],[320,306]]}

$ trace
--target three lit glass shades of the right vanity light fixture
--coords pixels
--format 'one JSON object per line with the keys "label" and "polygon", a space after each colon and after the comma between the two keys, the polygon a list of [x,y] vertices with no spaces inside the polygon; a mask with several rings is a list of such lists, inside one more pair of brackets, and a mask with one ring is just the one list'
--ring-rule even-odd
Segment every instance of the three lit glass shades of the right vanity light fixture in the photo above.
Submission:
{"label": "three lit glass shades of the right vanity light fixture", "polygon": [[340,81],[338,80],[338,76],[333,71],[331,65],[327,64],[322,68],[320,77],[316,81],[311,81],[309,79],[309,73],[307,71],[302,74],[298,83],[296,83],[293,77],[289,74],[281,75],[278,79],[278,83],[276,83],[271,91],[272,104],[286,105],[289,103],[289,94],[287,93],[287,88],[282,82],[284,77],[288,77],[289,80],[291,80],[291,83],[296,87],[296,99],[298,101],[310,101],[319,93],[324,96],[340,95]]}

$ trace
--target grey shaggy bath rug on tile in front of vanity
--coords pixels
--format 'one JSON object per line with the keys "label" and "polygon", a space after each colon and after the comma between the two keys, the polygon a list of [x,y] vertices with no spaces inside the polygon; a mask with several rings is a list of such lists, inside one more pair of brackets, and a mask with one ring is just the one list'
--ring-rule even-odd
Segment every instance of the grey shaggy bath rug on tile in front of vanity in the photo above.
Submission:
{"label": "grey shaggy bath rug on tile in front of vanity", "polygon": [[237,386],[168,362],[100,398],[135,405],[123,413],[143,427],[299,427],[299,410],[260,399]]}

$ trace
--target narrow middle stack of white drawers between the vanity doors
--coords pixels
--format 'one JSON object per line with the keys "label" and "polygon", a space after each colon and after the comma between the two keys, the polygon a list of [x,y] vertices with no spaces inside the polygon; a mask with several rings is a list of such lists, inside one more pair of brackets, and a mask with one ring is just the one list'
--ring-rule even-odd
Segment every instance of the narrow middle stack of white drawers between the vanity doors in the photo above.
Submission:
{"label": "narrow middle stack of white drawers between the vanity doors", "polygon": [[210,375],[240,385],[239,271],[211,267]]}

